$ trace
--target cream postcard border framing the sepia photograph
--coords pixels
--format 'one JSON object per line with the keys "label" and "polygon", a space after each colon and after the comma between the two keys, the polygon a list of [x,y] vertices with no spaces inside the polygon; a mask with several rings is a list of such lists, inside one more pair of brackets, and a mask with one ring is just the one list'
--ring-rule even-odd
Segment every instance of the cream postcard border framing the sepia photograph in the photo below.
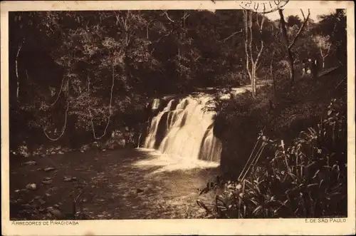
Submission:
{"label": "cream postcard border framing the sepia photograph", "polygon": [[[11,225],[9,221],[8,11],[113,9],[241,9],[241,1],[5,1],[1,2],[1,227],[4,235],[351,235],[355,233],[355,6],[352,1],[289,1],[286,9],[347,9],[346,222],[305,219],[82,220],[78,225]],[[31,221],[35,222],[35,221]],[[41,221],[38,221],[41,222]],[[43,221],[50,222],[50,221]],[[65,223],[66,224],[66,223]]]}

